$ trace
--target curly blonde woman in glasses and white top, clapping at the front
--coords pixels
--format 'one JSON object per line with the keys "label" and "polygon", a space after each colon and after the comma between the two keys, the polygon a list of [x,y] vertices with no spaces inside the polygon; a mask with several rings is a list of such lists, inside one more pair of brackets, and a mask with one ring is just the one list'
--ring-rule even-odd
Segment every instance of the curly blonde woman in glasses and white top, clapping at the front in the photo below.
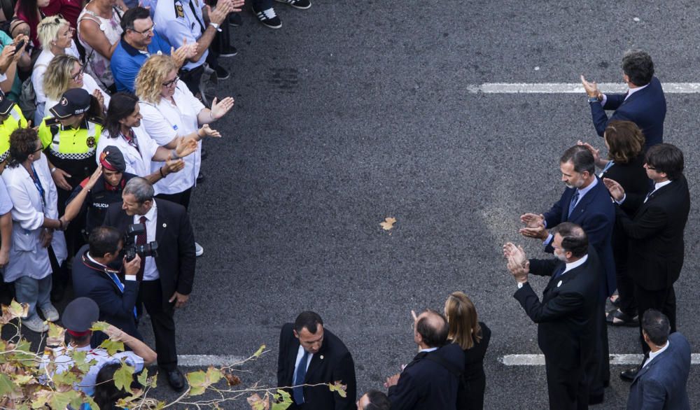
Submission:
{"label": "curly blonde woman in glasses and white top, clapping at the front", "polygon": [[[223,117],[233,107],[233,99],[226,97],[211,102],[211,110],[188,90],[178,77],[178,66],[169,55],[148,57],[136,78],[136,94],[141,99],[142,124],[146,133],[160,146],[175,148],[182,138],[201,141],[206,136],[220,137],[209,123]],[[173,158],[176,160],[177,158]],[[192,188],[197,181],[202,164],[202,144],[197,143],[193,155],[184,158],[185,169],[155,184],[159,198],[167,199],[188,208]],[[152,170],[165,165],[154,161]],[[202,246],[195,243],[197,256]]]}

